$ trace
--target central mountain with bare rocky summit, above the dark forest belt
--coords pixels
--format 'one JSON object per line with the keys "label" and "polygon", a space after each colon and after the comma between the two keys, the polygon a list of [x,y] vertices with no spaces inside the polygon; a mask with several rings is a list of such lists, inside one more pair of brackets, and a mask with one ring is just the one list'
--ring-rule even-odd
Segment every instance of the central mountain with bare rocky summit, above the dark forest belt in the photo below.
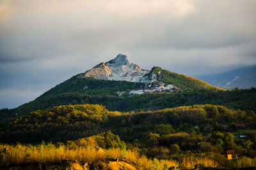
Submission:
{"label": "central mountain with bare rocky summit, above the dark forest belt", "polygon": [[186,90],[220,90],[204,81],[184,74],[153,67],[150,71],[132,64],[126,55],[100,63],[60,83],[40,97],[63,93],[80,93],[92,96],[122,96],[147,92],[176,92]]}

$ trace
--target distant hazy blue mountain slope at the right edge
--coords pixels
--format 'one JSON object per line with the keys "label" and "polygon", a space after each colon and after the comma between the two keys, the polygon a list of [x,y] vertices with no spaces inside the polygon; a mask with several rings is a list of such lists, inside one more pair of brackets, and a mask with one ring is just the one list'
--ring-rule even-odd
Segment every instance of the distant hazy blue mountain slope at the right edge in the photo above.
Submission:
{"label": "distant hazy blue mountain slope at the right edge", "polygon": [[220,74],[198,76],[199,79],[216,87],[256,87],[256,66],[240,67]]}

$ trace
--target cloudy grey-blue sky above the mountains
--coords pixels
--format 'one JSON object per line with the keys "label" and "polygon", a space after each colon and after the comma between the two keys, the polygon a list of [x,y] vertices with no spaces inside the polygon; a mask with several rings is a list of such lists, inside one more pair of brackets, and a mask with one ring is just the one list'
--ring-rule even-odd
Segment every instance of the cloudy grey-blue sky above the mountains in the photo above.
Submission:
{"label": "cloudy grey-blue sky above the mountains", "polygon": [[189,76],[256,64],[255,0],[0,0],[0,108],[118,53]]}

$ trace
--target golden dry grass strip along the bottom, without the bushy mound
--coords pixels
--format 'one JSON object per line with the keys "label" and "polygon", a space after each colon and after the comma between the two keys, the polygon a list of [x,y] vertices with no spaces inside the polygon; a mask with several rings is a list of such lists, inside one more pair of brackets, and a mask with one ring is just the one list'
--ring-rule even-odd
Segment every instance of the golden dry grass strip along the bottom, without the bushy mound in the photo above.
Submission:
{"label": "golden dry grass strip along the bottom, without the bushy mound", "polygon": [[[83,141],[82,141],[83,142]],[[92,164],[97,161],[106,161],[108,159],[127,159],[138,169],[166,169],[170,167],[180,167],[193,169],[196,164],[202,164],[205,167],[219,167],[218,162],[205,158],[182,156],[179,162],[175,160],[152,160],[140,155],[140,153],[132,150],[122,150],[120,148],[99,149],[95,143],[90,141],[86,146],[73,145],[6,145],[0,144],[0,162],[8,164],[26,164],[29,162],[40,162],[44,164],[56,164],[63,160],[77,160],[78,162]],[[7,149],[7,152],[4,152]],[[157,164],[156,164],[157,162]],[[256,167],[256,158],[251,159],[242,157],[238,160],[233,160],[228,165],[232,168],[239,167]]]}

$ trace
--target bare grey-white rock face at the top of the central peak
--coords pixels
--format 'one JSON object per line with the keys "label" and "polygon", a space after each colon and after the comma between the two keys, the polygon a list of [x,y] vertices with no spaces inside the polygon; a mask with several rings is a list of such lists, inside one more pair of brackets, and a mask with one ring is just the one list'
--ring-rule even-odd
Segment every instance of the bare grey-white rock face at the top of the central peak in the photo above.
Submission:
{"label": "bare grey-white rock face at the top of the central peak", "polygon": [[140,67],[132,64],[126,55],[118,54],[115,59],[102,62],[98,66],[86,71],[82,77],[94,77],[102,80],[120,80],[132,82],[148,82],[147,70],[140,69]]}

